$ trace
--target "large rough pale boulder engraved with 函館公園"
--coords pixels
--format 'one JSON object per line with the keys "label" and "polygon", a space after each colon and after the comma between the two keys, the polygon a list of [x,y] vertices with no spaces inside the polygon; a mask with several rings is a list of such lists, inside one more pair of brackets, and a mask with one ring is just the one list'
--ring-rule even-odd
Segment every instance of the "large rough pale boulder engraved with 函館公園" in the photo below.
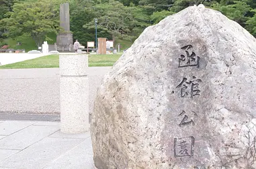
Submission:
{"label": "large rough pale boulder engraved with \u51fd\u9928\u516c\u5712", "polygon": [[98,169],[256,168],[256,42],[203,5],[148,27],[105,75]]}

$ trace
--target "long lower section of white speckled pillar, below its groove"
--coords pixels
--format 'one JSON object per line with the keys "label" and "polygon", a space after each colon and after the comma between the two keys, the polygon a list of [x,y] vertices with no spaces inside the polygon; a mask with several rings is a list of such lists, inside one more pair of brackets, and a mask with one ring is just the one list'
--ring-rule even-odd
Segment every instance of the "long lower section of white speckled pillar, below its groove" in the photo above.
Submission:
{"label": "long lower section of white speckled pillar, below its groove", "polygon": [[88,77],[60,77],[60,130],[77,134],[89,130]]}

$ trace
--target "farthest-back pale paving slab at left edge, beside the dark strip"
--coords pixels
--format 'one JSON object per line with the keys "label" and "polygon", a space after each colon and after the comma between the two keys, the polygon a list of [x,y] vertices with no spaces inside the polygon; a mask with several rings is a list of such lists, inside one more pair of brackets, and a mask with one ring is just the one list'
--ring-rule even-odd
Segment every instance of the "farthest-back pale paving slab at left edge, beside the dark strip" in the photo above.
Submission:
{"label": "farthest-back pale paving slab at left edge, beside the dark strip", "polygon": [[23,128],[26,128],[35,122],[17,122],[17,121],[4,121],[0,123],[0,135],[10,135]]}

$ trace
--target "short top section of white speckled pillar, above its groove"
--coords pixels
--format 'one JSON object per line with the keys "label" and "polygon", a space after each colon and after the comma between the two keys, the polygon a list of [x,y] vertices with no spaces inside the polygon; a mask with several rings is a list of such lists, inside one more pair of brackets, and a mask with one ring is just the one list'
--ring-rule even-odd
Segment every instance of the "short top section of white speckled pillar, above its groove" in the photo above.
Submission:
{"label": "short top section of white speckled pillar, above its groove", "polygon": [[85,54],[60,54],[61,76],[87,76],[88,55]]}

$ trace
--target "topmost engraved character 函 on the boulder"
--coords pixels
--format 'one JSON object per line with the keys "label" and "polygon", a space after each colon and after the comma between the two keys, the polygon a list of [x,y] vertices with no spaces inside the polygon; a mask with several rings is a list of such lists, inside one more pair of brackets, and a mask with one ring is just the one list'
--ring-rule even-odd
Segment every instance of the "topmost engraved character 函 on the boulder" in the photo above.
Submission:
{"label": "topmost engraved character \u51fd on the boulder", "polygon": [[[192,45],[181,47],[185,51],[184,55],[180,55],[179,67],[196,66],[200,68],[200,57],[196,56]],[[190,53],[189,53],[190,52]]]}

